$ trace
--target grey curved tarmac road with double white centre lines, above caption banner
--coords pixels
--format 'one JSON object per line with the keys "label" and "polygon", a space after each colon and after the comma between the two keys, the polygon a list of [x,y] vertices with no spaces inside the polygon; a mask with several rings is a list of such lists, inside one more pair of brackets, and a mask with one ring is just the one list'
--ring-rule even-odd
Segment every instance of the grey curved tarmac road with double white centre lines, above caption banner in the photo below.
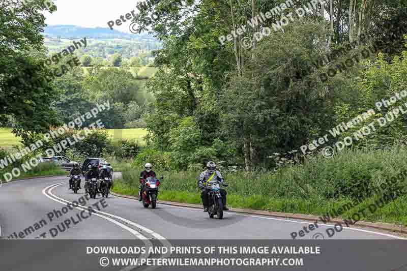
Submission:
{"label": "grey curved tarmac road with double white centre lines, above caption banner", "polygon": [[[83,180],[82,180],[83,187]],[[210,219],[202,210],[157,204],[156,209],[144,208],[139,202],[109,195],[101,206],[101,196],[86,199],[86,206],[92,206],[95,213],[79,205],[68,209],[67,214],[56,218],[53,210],[61,210],[67,203],[84,198],[84,189],[74,194],[68,190],[67,177],[44,177],[4,184],[0,188],[0,236],[7,238],[14,232],[18,235],[25,228],[37,224],[40,229],[23,234],[22,238],[36,237],[59,239],[291,239],[290,233],[298,232],[310,223],[284,220],[273,217],[236,214],[225,212],[224,219]],[[96,202],[99,202],[97,205]],[[94,205],[92,205],[94,204]],[[107,205],[107,206],[106,206]],[[98,210],[98,208],[100,210]],[[50,217],[48,217],[50,216]],[[64,221],[76,217],[76,225],[70,223],[64,230]],[[52,221],[50,221],[52,219]],[[40,223],[45,220],[47,223]],[[61,225],[62,223],[62,225]],[[60,230],[56,236],[40,236],[51,228]],[[66,224],[65,224],[66,225]],[[332,225],[319,224],[318,228],[304,237],[311,239],[316,233],[326,236],[326,229]],[[317,235],[321,235],[317,234]],[[314,236],[318,238],[319,236]],[[17,237],[21,239],[20,237]],[[322,237],[319,237],[322,238]],[[399,238],[373,230],[344,228],[330,239],[389,239]]]}

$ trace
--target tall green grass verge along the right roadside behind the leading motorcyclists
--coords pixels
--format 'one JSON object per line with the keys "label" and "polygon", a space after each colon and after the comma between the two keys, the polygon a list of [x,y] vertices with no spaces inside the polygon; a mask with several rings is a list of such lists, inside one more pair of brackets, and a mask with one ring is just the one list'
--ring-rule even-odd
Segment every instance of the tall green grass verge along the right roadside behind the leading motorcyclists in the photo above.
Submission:
{"label": "tall green grass verge along the right roadside behind the leading motorcyclists", "polygon": [[[373,202],[376,197],[368,192],[372,187],[379,187],[405,169],[407,149],[395,146],[387,150],[344,150],[331,159],[316,157],[303,165],[280,168],[277,172],[222,174],[229,185],[227,202],[232,207],[322,215],[362,196],[360,206],[342,215],[347,218]],[[200,172],[156,173],[164,175],[160,199],[200,203],[195,179]],[[138,170],[125,170],[123,180],[118,180],[114,191],[138,195],[139,174]],[[402,185],[405,187],[405,180]],[[384,192],[387,190],[391,188]],[[399,197],[363,219],[406,224],[406,199],[406,196]]]}

